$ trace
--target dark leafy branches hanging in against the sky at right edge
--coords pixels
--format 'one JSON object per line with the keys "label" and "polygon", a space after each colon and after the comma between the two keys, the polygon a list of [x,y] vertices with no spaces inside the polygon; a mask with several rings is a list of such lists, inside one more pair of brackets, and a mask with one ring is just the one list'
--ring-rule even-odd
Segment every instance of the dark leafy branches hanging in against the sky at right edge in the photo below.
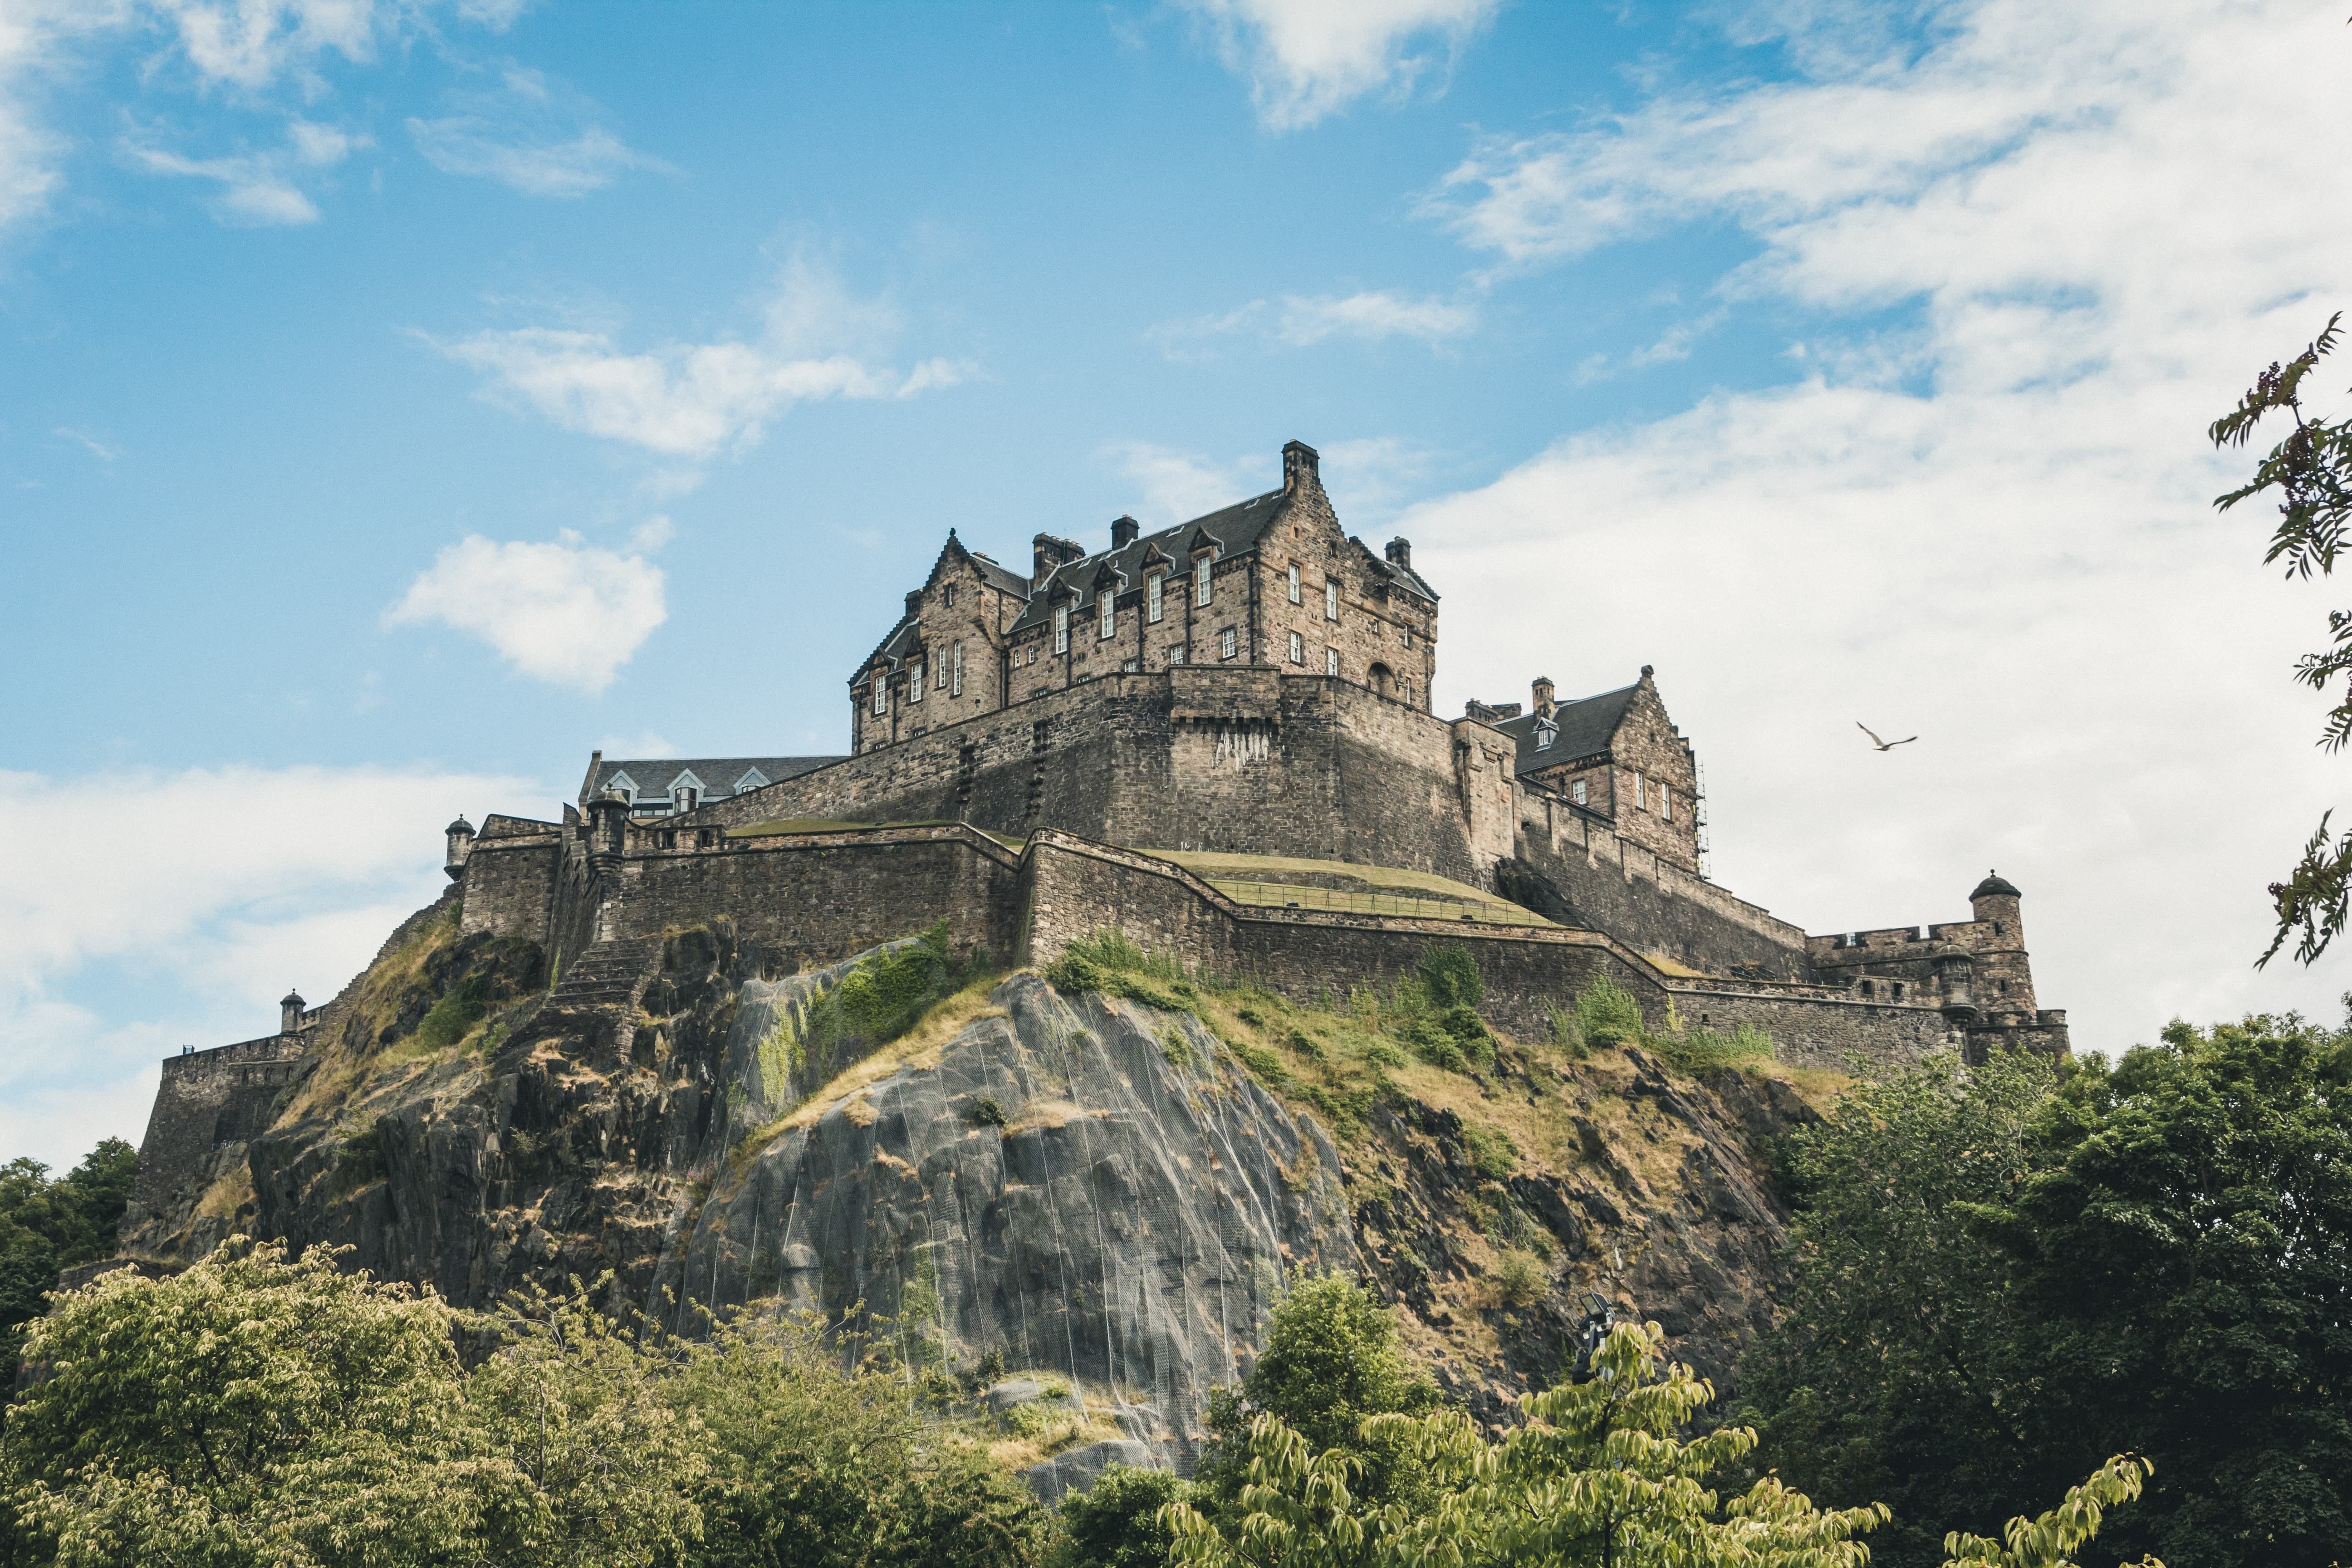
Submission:
{"label": "dark leafy branches hanging in against the sky at right edge", "polygon": [[[2328,317],[2326,329],[2312,339],[2310,348],[2284,367],[2272,360],[2253,388],[2237,400],[2237,407],[2213,421],[2216,447],[2244,447],[2253,440],[2253,428],[2270,414],[2286,414],[2293,430],[2270,449],[2253,477],[2218,496],[2213,505],[2230,510],[2239,501],[2277,494],[2279,524],[2270,536],[2265,564],[2286,562],[2286,576],[2331,576],[2336,555],[2345,543],[2345,522],[2352,520],[2352,418],[2328,423],[2307,418],[2303,411],[2303,381],[2319,369],[2319,360],[2336,350],[2336,324],[2343,313]],[[2314,691],[2326,691],[2338,675],[2352,675],[2352,611],[2328,611],[2328,646],[2305,654],[2296,663],[2296,679]],[[2340,750],[2352,738],[2352,682],[2345,696],[2328,710],[2319,731],[2324,748]],[[2258,959],[2270,964],[2288,936],[2300,933],[2296,959],[2310,964],[2343,929],[2352,912],[2352,832],[2328,839],[2333,811],[2319,818],[2319,827],[2303,846],[2303,860],[2286,882],[2270,884],[2279,929],[2270,938],[2270,950]]]}

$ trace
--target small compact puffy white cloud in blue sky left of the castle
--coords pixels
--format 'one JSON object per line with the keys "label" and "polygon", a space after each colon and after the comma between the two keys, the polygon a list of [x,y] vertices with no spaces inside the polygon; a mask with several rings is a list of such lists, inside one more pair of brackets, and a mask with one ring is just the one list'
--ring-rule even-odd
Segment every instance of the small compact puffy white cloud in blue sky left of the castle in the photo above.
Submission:
{"label": "small compact puffy white cloud in blue sky left of the castle", "polygon": [[[633,550],[666,538],[668,520],[656,524],[637,531]],[[409,583],[383,623],[440,621],[473,632],[534,679],[595,696],[668,616],[661,567],[564,529],[555,543],[461,538]]]}

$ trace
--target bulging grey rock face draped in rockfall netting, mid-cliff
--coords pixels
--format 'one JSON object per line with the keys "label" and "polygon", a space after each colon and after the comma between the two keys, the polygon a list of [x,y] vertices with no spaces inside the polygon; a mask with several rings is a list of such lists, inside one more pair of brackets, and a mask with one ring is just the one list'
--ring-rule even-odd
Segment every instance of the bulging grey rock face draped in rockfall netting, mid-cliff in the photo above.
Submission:
{"label": "bulging grey rock face draped in rockfall netting, mid-cliff", "polygon": [[1209,1389],[1247,1371],[1284,1272],[1355,1267],[1327,1133],[1190,1013],[1035,976],[936,1060],[849,1086],[833,1074],[889,1046],[809,1020],[854,976],[743,987],[710,1190],[663,1284],[720,1312],[847,1319],[910,1371],[995,1352],[1070,1378],[1190,1469]]}

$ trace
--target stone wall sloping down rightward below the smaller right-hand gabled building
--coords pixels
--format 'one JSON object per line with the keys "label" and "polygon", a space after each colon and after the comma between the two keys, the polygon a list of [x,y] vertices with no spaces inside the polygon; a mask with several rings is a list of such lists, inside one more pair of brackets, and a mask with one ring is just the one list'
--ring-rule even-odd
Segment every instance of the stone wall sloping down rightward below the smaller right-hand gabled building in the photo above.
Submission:
{"label": "stone wall sloping down rightward below the smaller right-hand gabled building", "polygon": [[1545,790],[1519,785],[1519,863],[1505,865],[1496,886],[1545,919],[1609,931],[1689,969],[1752,966],[1748,973],[1771,980],[1811,978],[1802,929]]}

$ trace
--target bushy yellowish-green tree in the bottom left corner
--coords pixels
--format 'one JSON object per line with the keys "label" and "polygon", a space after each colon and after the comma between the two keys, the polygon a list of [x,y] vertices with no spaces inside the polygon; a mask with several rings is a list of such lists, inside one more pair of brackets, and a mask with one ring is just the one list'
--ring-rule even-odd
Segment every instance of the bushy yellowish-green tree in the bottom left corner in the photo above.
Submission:
{"label": "bushy yellowish-green tree in the bottom left corner", "polygon": [[47,1375],[7,1410],[9,1500],[64,1566],[393,1568],[520,1502],[468,1420],[447,1307],[325,1248],[103,1274],[26,1354]]}

